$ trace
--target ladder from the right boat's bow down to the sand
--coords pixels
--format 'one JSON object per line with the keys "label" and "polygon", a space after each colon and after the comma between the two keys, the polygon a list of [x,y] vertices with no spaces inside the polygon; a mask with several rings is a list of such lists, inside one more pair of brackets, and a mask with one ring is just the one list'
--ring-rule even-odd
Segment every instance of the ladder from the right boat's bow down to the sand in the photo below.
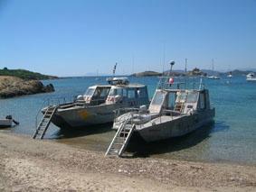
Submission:
{"label": "ladder from the right boat's bow down to the sand", "polygon": [[126,119],[120,123],[119,129],[112,142],[109,144],[109,148],[105,156],[122,156],[122,153],[126,150],[129,139],[135,129],[135,124],[131,122],[131,118],[132,114],[130,113]]}

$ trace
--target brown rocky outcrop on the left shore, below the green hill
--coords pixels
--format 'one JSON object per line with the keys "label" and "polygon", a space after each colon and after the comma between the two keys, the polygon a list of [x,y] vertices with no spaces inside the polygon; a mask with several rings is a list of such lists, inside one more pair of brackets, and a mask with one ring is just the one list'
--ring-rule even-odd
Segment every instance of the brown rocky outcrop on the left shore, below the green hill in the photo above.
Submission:
{"label": "brown rocky outcrop on the left shore, below the green hill", "polygon": [[38,80],[24,80],[22,78],[0,76],[0,98],[32,95],[37,93],[53,92],[52,84],[43,86]]}

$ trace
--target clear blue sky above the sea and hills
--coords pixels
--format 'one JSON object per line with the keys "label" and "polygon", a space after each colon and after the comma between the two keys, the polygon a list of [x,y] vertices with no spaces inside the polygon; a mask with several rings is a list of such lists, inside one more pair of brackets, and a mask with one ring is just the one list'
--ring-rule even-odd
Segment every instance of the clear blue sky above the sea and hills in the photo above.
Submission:
{"label": "clear blue sky above the sea and hills", "polygon": [[164,58],[255,69],[256,0],[0,0],[0,68],[79,76],[118,62],[130,74]]}

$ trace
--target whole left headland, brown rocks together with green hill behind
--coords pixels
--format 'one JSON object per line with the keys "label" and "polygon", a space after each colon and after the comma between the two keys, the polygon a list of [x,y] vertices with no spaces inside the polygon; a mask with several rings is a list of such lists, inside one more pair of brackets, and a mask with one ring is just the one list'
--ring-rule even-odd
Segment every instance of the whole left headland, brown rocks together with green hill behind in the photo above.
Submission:
{"label": "whole left headland, brown rocks together with green hill behind", "polygon": [[52,84],[44,86],[40,79],[57,78],[24,69],[0,69],[0,98],[53,92]]}

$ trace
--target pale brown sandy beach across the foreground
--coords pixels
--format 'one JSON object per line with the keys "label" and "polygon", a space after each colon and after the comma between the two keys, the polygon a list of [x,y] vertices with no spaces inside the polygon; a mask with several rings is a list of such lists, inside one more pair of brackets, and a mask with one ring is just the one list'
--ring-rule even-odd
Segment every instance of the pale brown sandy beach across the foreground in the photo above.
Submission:
{"label": "pale brown sandy beach across the foreground", "polygon": [[0,191],[255,191],[256,166],[105,158],[49,140],[0,133]]}

